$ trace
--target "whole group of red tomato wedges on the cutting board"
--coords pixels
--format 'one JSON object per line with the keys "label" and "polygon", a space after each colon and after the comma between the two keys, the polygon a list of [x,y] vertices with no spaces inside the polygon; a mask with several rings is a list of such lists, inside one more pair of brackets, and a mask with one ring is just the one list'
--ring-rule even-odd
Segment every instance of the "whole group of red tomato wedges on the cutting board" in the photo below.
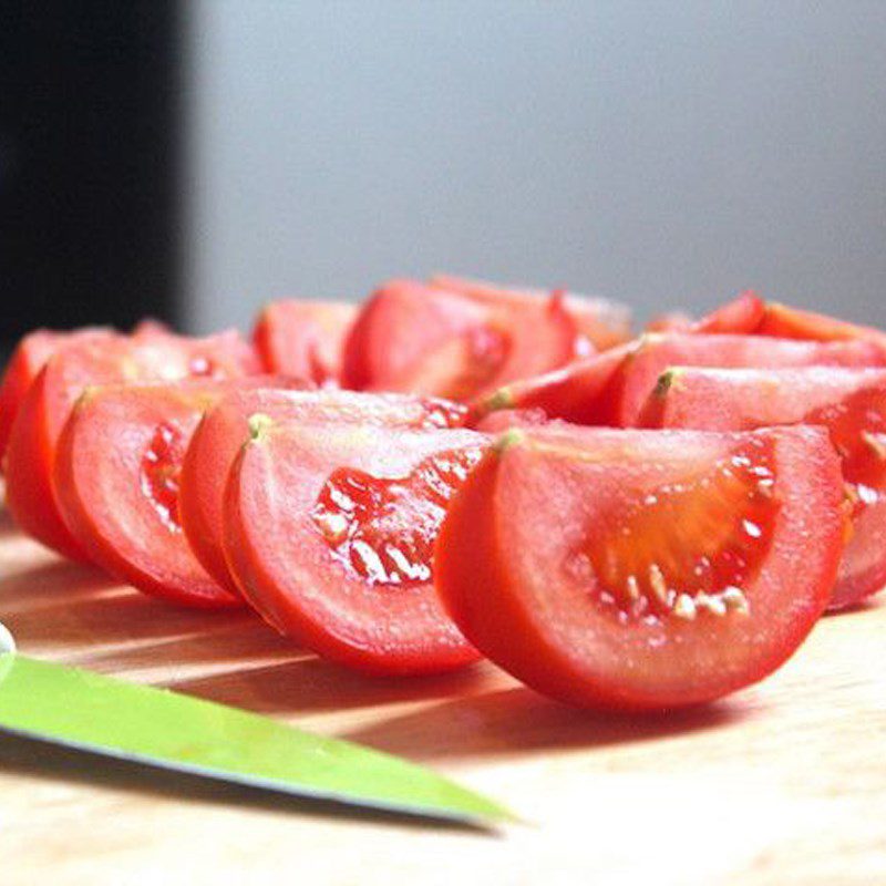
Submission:
{"label": "whole group of red tomato wedges on the cutting board", "polygon": [[38,330],[0,382],[8,508],[368,674],[710,702],[886,585],[886,333],[751,291],[630,326],[439,275],[271,302],[251,340]]}

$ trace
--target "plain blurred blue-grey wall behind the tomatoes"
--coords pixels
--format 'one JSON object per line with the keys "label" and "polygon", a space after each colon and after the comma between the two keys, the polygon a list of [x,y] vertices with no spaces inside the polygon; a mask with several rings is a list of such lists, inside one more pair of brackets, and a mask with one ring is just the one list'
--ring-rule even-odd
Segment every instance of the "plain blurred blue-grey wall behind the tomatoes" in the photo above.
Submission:
{"label": "plain blurred blue-grey wall behind the tomatoes", "polygon": [[886,2],[190,7],[189,322],[437,269],[886,324]]}

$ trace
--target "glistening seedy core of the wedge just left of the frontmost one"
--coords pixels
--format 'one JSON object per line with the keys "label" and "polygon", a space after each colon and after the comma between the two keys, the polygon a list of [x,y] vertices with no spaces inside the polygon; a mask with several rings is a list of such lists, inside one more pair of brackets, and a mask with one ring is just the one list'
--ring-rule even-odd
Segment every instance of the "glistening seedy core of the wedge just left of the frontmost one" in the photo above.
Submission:
{"label": "glistening seedy core of the wedge just left of the frontmost one", "polygon": [[394,478],[341,467],[323,484],[311,519],[336,559],[370,584],[424,584],[446,504],[481,455],[480,447],[437,453]]}

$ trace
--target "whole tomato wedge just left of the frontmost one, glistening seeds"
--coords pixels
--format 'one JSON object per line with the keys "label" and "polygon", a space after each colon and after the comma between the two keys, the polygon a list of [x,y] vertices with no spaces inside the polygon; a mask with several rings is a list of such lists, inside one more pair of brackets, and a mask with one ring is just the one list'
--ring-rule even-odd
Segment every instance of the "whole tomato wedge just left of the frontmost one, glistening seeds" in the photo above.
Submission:
{"label": "whole tomato wedge just left of the frontmost one, glistening seeds", "polygon": [[253,606],[320,655],[373,673],[433,673],[477,652],[444,615],[431,553],[487,437],[254,421],[225,504],[225,554]]}

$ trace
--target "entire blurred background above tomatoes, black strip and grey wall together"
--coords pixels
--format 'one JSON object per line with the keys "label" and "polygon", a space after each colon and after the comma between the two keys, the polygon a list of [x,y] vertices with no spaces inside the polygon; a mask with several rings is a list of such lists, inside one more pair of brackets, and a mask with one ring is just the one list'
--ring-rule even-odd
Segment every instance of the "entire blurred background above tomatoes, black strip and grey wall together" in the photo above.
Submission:
{"label": "entire blurred background above tomatoes, black strip and grey wall together", "polygon": [[884,45],[882,0],[0,0],[2,340],[435,270],[886,324]]}

